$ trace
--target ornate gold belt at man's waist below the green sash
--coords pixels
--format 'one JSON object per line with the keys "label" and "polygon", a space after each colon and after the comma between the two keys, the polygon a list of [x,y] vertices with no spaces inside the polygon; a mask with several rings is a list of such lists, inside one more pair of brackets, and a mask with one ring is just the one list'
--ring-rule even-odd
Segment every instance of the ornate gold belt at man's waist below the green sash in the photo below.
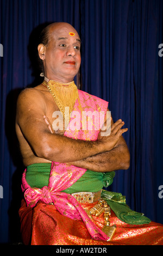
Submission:
{"label": "ornate gold belt at man's waist below the green sash", "polygon": [[94,203],[101,199],[101,190],[98,192],[78,192],[72,193],[73,196],[80,204],[81,203]]}

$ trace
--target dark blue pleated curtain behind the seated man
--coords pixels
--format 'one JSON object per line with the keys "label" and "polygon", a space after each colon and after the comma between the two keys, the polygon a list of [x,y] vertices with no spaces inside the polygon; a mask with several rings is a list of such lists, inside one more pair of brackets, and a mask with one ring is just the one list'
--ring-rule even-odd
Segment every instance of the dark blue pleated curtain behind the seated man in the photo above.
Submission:
{"label": "dark blue pleated curtain behind the seated man", "polygon": [[49,22],[66,21],[82,39],[80,86],[109,101],[128,132],[129,170],[118,170],[110,190],[131,209],[163,224],[162,0],[0,0],[0,242],[20,240],[23,164],[15,136],[15,107],[24,87],[40,82],[37,35]]}

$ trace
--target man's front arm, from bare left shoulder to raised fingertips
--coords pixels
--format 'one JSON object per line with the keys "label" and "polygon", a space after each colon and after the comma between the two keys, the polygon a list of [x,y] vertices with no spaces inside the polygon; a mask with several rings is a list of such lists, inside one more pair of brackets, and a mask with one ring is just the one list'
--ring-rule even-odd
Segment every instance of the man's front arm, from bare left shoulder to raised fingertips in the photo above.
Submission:
{"label": "man's front arm, from bare left shoulder to raised fingertips", "polygon": [[18,97],[16,126],[34,151],[43,159],[56,162],[74,162],[114,148],[127,129],[121,129],[122,120],[116,122],[108,139],[82,141],[51,133],[43,120],[46,104],[36,89],[26,89]]}

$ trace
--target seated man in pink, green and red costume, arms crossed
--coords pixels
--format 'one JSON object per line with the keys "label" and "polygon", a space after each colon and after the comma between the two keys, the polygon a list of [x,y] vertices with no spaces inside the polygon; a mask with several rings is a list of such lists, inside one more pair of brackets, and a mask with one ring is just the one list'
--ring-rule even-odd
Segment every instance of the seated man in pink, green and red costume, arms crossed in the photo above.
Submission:
{"label": "seated man in pink, green and red costume, arms crossed", "polygon": [[[114,123],[112,118],[107,136],[103,136],[102,125],[95,129],[92,120],[93,131],[82,129],[83,126],[72,129],[75,115],[67,114],[65,107],[70,108],[70,113],[79,113],[76,125],[84,125],[82,113],[86,109],[96,110],[99,117],[105,113],[107,124],[108,103],[77,90],[74,85],[73,79],[80,67],[81,42],[77,31],[70,24],[60,22],[49,25],[42,35],[38,53],[45,80],[35,88],[23,90],[17,101],[16,132],[23,163],[27,166],[22,179],[26,203],[23,200],[20,209],[23,242],[106,245],[111,243],[107,242],[110,240],[109,233],[105,232],[107,228],[103,229],[109,225],[106,202],[111,209],[117,206],[114,200],[108,201],[108,194],[104,192],[104,201],[97,204],[95,199],[101,200],[102,187],[111,184],[112,171],[129,168],[130,155],[122,137],[128,129],[122,129],[121,119]],[[78,192],[91,192],[90,197],[85,196],[88,202],[82,198],[83,193]],[[123,197],[120,201],[124,206]],[[108,209],[105,217],[104,208]],[[128,210],[126,212],[128,215]],[[112,216],[117,218],[114,213]],[[138,223],[149,222],[139,215]],[[110,230],[112,236],[115,226]]]}

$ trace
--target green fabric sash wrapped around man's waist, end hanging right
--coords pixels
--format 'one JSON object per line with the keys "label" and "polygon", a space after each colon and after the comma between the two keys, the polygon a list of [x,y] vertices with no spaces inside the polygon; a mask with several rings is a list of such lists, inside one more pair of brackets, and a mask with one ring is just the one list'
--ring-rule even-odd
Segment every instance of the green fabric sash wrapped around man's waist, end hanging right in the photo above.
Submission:
{"label": "green fabric sash wrapped around man's waist, end hanging right", "polygon": [[[51,163],[37,163],[27,167],[26,180],[30,187],[42,188],[48,186]],[[77,192],[97,192],[103,187],[112,184],[115,172],[99,173],[86,170],[84,175],[71,187],[62,191],[68,194]],[[126,204],[126,197],[121,193],[102,190],[103,199],[109,204],[119,220],[129,224],[148,224],[149,218],[143,214],[133,211]]]}

